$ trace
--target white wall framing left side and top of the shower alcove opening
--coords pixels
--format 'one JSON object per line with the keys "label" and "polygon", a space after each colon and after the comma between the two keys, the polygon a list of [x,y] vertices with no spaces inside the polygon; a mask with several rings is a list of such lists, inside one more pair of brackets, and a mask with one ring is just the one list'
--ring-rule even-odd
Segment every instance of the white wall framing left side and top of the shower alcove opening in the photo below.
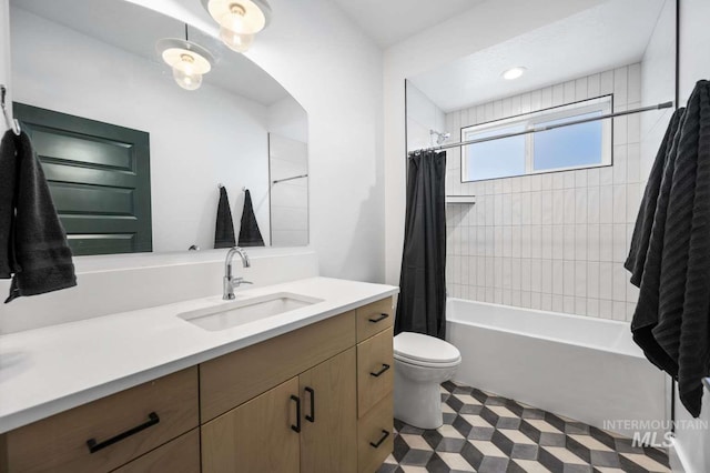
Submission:
{"label": "white wall framing left side and top of the shower alcove opening", "polygon": [[[385,248],[388,283],[397,284],[399,281],[404,241],[405,79],[566,18],[601,1],[547,0],[540,2],[536,9],[530,9],[527,0],[487,1],[385,51]],[[511,16],[511,11],[526,11],[526,14]]]}

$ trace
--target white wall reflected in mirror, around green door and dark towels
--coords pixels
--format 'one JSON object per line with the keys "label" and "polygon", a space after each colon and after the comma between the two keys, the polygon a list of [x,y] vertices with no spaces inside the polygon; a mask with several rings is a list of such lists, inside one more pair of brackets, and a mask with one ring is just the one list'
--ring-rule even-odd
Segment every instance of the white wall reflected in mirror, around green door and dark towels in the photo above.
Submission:
{"label": "white wall reflected in mirror, around green door and dark towels", "polygon": [[214,246],[220,182],[235,232],[246,187],[268,236],[265,105],[207,83],[184,91],[158,61],[26,10],[11,16],[14,100],[150,133],[153,251]]}

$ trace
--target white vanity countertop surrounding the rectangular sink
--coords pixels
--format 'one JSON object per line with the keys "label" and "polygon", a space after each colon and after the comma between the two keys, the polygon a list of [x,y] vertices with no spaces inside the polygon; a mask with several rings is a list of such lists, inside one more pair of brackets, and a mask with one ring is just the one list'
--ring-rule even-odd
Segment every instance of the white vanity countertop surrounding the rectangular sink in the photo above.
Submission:
{"label": "white vanity countertop surrounding the rectangular sink", "polygon": [[0,336],[0,433],[396,294],[384,284],[304,279],[235,291],[236,300],[291,292],[323,302],[210,332],[179,313],[221,295]]}

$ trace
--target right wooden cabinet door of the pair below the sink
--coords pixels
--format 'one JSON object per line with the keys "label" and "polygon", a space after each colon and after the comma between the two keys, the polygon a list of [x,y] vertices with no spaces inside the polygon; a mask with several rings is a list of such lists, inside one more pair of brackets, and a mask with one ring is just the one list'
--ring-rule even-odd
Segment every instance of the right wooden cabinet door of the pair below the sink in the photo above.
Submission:
{"label": "right wooden cabinet door of the pair below the sink", "polygon": [[356,353],[352,348],[298,376],[301,472],[357,471]]}

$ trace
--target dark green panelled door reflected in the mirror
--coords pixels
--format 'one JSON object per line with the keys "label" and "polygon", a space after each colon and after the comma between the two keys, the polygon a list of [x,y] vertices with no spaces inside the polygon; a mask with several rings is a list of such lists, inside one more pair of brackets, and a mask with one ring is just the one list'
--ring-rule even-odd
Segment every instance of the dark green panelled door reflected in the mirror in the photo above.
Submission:
{"label": "dark green panelled door reflected in the mirror", "polygon": [[74,255],[152,251],[149,133],[14,103]]}

